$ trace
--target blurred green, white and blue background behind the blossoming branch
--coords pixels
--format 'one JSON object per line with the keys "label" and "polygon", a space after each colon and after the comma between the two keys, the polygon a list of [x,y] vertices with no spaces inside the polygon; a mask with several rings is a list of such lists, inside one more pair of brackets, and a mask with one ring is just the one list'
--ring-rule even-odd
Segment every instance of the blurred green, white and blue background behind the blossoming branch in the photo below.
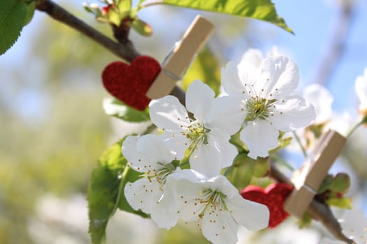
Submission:
{"label": "blurred green, white and blue background behind the blossoming branch", "polygon": [[[295,35],[266,22],[200,12],[217,26],[205,51],[210,61],[221,67],[249,48],[266,53],[276,45],[298,63],[301,87],[324,84],[334,96],[336,115],[355,121],[354,81],[367,67],[367,1],[273,2]],[[82,10],[82,1],[57,3],[111,36],[106,24]],[[198,13],[146,8],[139,16],[154,34],[145,38],[131,31],[131,40],[139,52],[162,61]],[[0,56],[0,243],[90,242],[85,197],[90,173],[108,145],[147,126],[110,119],[103,112],[108,93],[101,71],[116,60],[92,40],[38,12]],[[186,80],[220,79],[220,70],[212,71],[198,64]],[[366,130],[355,133],[332,169],[349,172],[350,197],[365,211]],[[318,224],[299,230],[295,222],[290,218],[275,230],[255,234],[241,229],[239,243],[312,244],[327,235]],[[162,231],[150,220],[122,212],[111,220],[107,236],[110,244],[208,243],[190,226]]]}

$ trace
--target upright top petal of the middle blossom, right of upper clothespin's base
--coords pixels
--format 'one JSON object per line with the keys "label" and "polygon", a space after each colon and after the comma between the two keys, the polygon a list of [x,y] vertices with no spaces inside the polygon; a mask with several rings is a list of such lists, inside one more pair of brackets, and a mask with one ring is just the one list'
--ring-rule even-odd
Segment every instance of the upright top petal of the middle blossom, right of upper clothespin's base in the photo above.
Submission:
{"label": "upright top petal of the middle blossom, right of upper clothespin's base", "polygon": [[186,91],[186,107],[201,123],[210,123],[208,111],[213,106],[215,93],[203,82],[196,80],[189,85]]}

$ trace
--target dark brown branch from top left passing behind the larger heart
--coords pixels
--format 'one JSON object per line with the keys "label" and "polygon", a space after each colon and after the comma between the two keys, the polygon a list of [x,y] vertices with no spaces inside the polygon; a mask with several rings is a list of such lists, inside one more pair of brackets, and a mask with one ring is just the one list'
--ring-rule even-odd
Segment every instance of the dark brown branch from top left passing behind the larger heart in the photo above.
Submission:
{"label": "dark brown branch from top left passing behind the larger heart", "polygon": [[[62,8],[50,0],[43,0],[36,3],[36,9],[42,12],[47,13],[53,19],[70,26],[71,28],[79,31],[80,33],[85,34],[96,43],[99,43],[103,47],[106,47],[110,52],[115,54],[116,56],[124,59],[131,63],[136,56],[140,56],[141,54],[136,51],[133,43],[130,40],[127,40],[124,43],[115,43],[113,40],[103,35],[103,33],[97,31],[92,26],[89,26],[82,20],[79,20],[77,17],[69,13],[67,10]],[[185,93],[178,86],[175,86],[171,95],[175,96],[180,100],[180,102],[185,105]]]}

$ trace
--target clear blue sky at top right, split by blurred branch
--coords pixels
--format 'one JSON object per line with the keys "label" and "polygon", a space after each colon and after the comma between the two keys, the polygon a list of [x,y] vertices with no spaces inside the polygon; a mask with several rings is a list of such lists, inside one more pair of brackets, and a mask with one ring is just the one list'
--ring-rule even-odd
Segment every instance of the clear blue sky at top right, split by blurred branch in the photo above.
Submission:
{"label": "clear blue sky at top right, split by blurred branch", "polygon": [[[280,33],[277,45],[289,49],[298,63],[304,84],[315,77],[319,57],[326,51],[331,29],[336,26],[338,9],[326,1],[273,1],[278,13],[296,33]],[[331,2],[331,1],[329,1]],[[345,53],[331,76],[329,89],[334,96],[333,108],[339,112],[354,109],[354,80],[367,67],[367,1],[358,1],[347,38]]]}

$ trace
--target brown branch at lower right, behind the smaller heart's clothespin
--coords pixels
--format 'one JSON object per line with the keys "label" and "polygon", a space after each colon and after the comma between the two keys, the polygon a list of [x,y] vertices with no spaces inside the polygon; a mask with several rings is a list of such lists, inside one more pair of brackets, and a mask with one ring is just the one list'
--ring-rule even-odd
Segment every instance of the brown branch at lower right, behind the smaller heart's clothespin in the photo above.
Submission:
{"label": "brown branch at lower right, behind the smaller heart's clothespin", "polygon": [[[279,171],[277,167],[271,162],[271,170],[270,170],[270,176],[271,178],[274,178],[276,181],[280,183],[287,183],[288,185],[293,185],[292,181],[289,180],[282,172]],[[347,238],[343,232],[342,227],[340,227],[340,224],[338,220],[334,217],[333,213],[331,212],[329,206],[326,204],[322,204],[319,201],[316,201],[315,199],[312,200],[310,206],[308,206],[308,212],[312,215],[312,218],[314,220],[318,220],[324,224],[324,227],[330,231],[333,236],[338,238],[340,241],[344,241],[348,244],[355,244],[353,240]]]}

